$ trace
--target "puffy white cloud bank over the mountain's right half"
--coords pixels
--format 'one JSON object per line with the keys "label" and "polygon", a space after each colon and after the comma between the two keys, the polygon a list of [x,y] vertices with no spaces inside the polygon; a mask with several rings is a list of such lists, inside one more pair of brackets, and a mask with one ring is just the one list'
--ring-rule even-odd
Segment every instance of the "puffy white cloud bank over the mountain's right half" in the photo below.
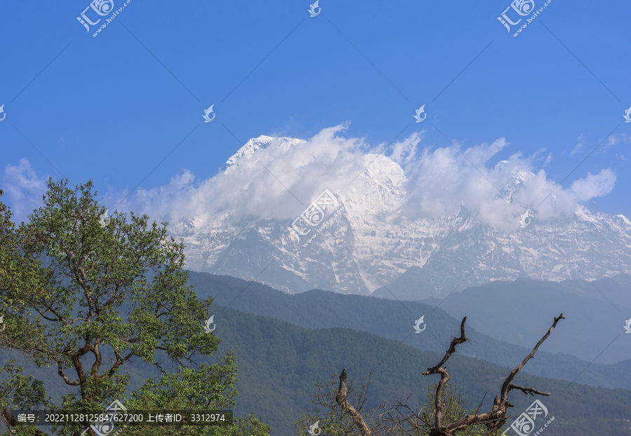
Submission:
{"label": "puffy white cloud bank over the mountain's right half", "polygon": [[[404,215],[429,219],[456,213],[464,205],[482,222],[510,231],[515,219],[529,207],[536,207],[541,219],[562,217],[574,212],[579,203],[611,192],[615,184],[615,174],[602,170],[599,175],[576,180],[570,189],[557,187],[544,170],[534,168],[536,154],[524,158],[516,153],[508,161],[487,168],[491,158],[507,146],[506,139],[500,138],[465,151],[475,168],[453,147],[423,151],[407,174],[409,200]],[[548,155],[546,164],[550,159]]]}

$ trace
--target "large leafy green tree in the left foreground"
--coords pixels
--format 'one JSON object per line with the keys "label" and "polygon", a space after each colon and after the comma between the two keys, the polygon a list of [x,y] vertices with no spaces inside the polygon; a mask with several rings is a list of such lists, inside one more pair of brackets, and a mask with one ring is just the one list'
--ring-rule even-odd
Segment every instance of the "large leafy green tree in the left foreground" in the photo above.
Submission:
{"label": "large leafy green tree in the left foreground", "polygon": [[[104,222],[92,182],[69,189],[67,181],[49,179],[47,186],[43,207],[17,229],[11,211],[0,202],[0,313],[6,325],[0,350],[18,350],[40,368],[52,366],[76,389],[61,396],[57,409],[101,411],[114,399],[124,402],[130,376],[121,374],[121,368],[132,365],[134,357],[159,368],[156,353],[170,358],[175,374],[164,374],[158,383],[149,379],[125,407],[162,407],[175,392],[182,400],[173,403],[176,409],[233,405],[233,355],[211,366],[194,360],[212,355],[219,345],[201,327],[212,299],[199,301],[186,285],[184,245],[168,236],[168,223],[150,224],[149,217],[133,212],[129,217],[114,212]],[[15,380],[1,381],[0,392],[8,392]],[[41,404],[41,383],[29,383],[30,397]],[[8,412],[8,407],[20,406],[18,400],[7,396],[1,405]],[[250,417],[232,428],[209,428],[208,434],[246,434],[250,427],[259,435],[269,432]],[[79,435],[84,428],[52,430]],[[143,435],[164,434],[160,429]],[[191,434],[186,430],[170,434]],[[20,428],[18,434],[25,431],[32,428]],[[92,428],[87,431],[95,435]]]}

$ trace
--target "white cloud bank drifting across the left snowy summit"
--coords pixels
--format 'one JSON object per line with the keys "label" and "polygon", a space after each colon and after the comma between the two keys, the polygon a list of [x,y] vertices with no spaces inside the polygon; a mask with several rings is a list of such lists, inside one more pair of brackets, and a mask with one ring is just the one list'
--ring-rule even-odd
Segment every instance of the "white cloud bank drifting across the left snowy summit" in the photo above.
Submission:
{"label": "white cloud bank drifting across the left snowy summit", "polygon": [[364,170],[369,147],[362,139],[338,135],[347,127],[324,129],[298,144],[276,140],[255,152],[259,161],[240,158],[229,174],[219,172],[201,182],[194,183],[194,176],[183,170],[166,186],[139,188],[133,203],[151,217],[170,222],[222,210],[236,217],[293,219],[325,189],[347,189],[350,179]]}

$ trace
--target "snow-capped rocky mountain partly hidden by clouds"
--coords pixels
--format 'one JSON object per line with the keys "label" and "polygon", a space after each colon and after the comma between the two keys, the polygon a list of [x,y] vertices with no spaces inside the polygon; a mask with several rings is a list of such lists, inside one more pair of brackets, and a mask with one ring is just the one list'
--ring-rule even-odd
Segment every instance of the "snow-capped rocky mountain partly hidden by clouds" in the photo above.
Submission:
{"label": "snow-capped rocky mountain partly hidden by clouds", "polygon": [[[266,165],[257,161],[271,144],[288,149],[301,143],[250,139],[229,158],[224,175],[237,177],[240,165]],[[385,156],[367,154],[364,159],[365,170],[356,182],[348,189],[332,189],[330,195],[313,193],[302,218],[299,213],[293,219],[252,213],[235,217],[230,207],[217,205],[180,221],[171,231],[184,238],[187,267],[290,293],[313,288],[376,291],[379,297],[413,300],[491,280],[595,280],[631,274],[631,222],[623,215],[591,213],[578,206],[571,216],[558,219],[531,215],[524,228],[515,221],[513,231],[483,224],[475,210],[464,206],[442,217],[409,220],[401,213],[408,199],[404,170]],[[501,191],[507,202],[529,175],[513,171]]]}

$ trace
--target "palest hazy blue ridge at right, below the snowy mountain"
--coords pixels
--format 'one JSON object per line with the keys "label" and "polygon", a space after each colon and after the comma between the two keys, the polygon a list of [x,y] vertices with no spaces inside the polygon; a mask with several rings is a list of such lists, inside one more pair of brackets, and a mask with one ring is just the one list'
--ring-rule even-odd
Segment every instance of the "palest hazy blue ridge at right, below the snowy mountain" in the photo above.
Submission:
{"label": "palest hazy blue ridge at right, below the snowy mountain", "polygon": [[[625,278],[618,279],[618,282],[624,281]],[[599,289],[602,284],[595,282]],[[559,343],[554,348],[544,344],[541,350],[568,353],[588,362],[597,357],[597,362],[602,363],[629,359],[631,338],[625,335],[624,325],[625,320],[631,318],[631,289],[620,300],[621,292],[609,287],[611,302],[591,285],[584,293],[579,289],[585,297],[577,295],[576,291],[569,292],[571,289],[567,283],[530,279],[496,281],[454,292],[438,307],[454,318],[475,313],[477,316],[468,318],[471,327],[499,341],[520,346],[536,343],[541,336],[541,329],[537,327],[551,316],[563,313],[567,318],[564,328],[555,332]],[[623,306],[624,303],[628,306]],[[554,313],[557,315],[552,315]]]}

